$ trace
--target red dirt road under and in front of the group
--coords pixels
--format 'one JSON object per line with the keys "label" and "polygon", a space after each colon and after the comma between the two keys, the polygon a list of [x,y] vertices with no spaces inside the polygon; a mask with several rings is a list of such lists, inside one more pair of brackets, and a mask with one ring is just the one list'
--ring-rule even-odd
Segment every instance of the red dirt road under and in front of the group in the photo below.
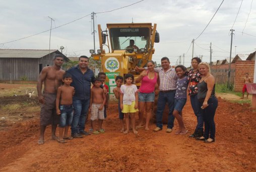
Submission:
{"label": "red dirt road under and in front of the group", "polygon": [[188,138],[196,126],[189,100],[183,111],[187,135],[166,133],[166,126],[153,132],[154,124],[124,135],[117,105],[107,113],[106,133],[66,144],[51,140],[48,127],[45,144],[38,145],[39,119],[0,131],[0,171],[256,171],[256,113],[246,105],[219,99],[212,144]]}

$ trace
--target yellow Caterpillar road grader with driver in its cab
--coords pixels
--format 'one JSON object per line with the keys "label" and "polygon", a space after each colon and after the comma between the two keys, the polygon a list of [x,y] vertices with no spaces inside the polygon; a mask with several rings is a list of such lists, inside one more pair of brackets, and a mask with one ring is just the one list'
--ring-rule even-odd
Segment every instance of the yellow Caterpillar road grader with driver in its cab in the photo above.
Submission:
{"label": "yellow Caterpillar road grader with driver in its cab", "polygon": [[98,34],[100,49],[97,53],[90,50],[90,53],[95,60],[101,60],[103,72],[107,76],[110,99],[113,99],[115,76],[132,73],[136,77],[139,73],[136,73],[135,67],[144,67],[152,59],[154,43],[159,42],[159,33],[156,31],[156,24],[124,23],[107,24],[106,30],[98,25]]}

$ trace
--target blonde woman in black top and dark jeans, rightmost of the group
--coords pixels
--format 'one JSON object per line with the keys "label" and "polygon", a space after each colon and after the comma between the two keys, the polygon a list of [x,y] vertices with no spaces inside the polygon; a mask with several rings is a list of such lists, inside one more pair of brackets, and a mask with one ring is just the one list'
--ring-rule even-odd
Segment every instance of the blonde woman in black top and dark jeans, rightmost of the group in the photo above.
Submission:
{"label": "blonde woman in black top and dark jeans, rightmost of the group", "polygon": [[202,137],[197,137],[197,140],[213,143],[215,142],[214,116],[218,107],[218,99],[215,96],[215,78],[211,74],[211,69],[207,62],[199,64],[199,71],[202,74],[202,78],[198,83],[198,100],[202,109],[205,132]]}

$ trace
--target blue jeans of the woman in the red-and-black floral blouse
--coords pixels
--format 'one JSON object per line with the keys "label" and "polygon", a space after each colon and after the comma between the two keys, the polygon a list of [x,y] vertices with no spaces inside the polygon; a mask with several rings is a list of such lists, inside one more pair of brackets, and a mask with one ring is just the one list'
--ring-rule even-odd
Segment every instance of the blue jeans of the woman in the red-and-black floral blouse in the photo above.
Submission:
{"label": "blue jeans of the woman in the red-and-black floral blouse", "polygon": [[194,110],[194,113],[197,117],[197,127],[196,130],[201,130],[204,131],[203,127],[204,127],[204,120],[203,120],[203,115],[202,115],[202,109],[201,109],[201,105],[200,102],[198,100],[198,95],[190,95],[190,103],[191,106]]}

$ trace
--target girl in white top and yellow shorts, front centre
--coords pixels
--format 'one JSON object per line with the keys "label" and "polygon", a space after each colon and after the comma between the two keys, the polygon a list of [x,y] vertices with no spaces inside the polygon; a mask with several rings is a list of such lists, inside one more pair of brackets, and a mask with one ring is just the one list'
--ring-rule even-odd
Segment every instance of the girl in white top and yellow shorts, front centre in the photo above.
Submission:
{"label": "girl in white top and yellow shorts, front centre", "polygon": [[125,114],[125,124],[126,130],[123,131],[123,134],[129,132],[129,118],[132,121],[132,128],[134,134],[138,134],[138,131],[135,129],[135,112],[138,112],[138,92],[137,87],[134,82],[134,75],[127,73],[124,77],[125,84],[121,85],[120,91],[120,107],[122,113]]}

